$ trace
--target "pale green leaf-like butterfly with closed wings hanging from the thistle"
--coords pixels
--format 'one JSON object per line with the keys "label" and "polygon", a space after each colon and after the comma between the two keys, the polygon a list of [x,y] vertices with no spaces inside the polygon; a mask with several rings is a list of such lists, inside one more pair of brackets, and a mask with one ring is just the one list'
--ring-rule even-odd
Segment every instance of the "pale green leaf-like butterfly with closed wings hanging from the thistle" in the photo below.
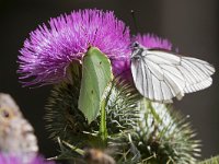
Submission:
{"label": "pale green leaf-like butterfly with closed wings hanging from the thistle", "polygon": [[113,79],[108,58],[97,48],[91,47],[82,60],[82,80],[79,109],[91,122],[100,112],[103,93]]}

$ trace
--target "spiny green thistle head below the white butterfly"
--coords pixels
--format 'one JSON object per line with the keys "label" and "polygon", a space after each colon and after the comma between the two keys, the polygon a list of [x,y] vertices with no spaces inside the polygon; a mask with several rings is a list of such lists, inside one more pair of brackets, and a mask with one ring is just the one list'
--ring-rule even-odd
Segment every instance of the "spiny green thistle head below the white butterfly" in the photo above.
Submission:
{"label": "spiny green thistle head below the white butterfly", "polygon": [[199,141],[186,121],[165,105],[139,103],[142,112],[137,127],[113,138],[110,147],[119,163],[196,163]]}

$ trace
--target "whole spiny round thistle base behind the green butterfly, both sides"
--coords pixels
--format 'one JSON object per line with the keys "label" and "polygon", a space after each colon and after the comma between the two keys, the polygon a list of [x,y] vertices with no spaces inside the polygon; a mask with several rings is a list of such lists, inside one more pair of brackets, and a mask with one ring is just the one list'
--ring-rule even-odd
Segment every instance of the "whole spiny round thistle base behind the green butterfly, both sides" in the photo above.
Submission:
{"label": "whole spiny round thistle base behind the green butterfly, both sides", "polygon": [[[71,83],[65,82],[53,89],[46,105],[46,128],[54,140],[60,138],[80,149],[99,148],[101,147],[99,145],[100,116],[89,124],[78,109],[80,75],[72,77]],[[139,94],[136,93],[135,89],[127,82],[115,79],[104,95],[107,95],[105,110],[110,138],[135,127],[139,119],[139,109],[137,108]]]}

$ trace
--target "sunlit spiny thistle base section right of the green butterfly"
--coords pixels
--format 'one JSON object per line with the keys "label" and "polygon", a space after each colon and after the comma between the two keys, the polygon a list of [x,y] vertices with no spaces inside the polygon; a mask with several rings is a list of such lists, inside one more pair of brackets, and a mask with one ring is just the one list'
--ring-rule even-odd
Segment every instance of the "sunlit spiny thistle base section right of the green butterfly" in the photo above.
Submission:
{"label": "sunlit spiny thistle base section right of the green butterfly", "polygon": [[132,129],[139,119],[137,102],[139,94],[126,81],[116,78],[111,85],[106,102],[106,126],[108,134],[116,134],[126,129]]}

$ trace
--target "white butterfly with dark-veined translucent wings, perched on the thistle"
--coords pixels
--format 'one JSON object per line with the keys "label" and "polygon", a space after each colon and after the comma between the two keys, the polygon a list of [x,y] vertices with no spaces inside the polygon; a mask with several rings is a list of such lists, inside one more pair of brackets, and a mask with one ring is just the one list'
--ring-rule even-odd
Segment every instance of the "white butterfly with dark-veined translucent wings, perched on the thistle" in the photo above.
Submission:
{"label": "white butterfly with dark-veined translucent wings, perched on the thistle", "polygon": [[185,93],[204,90],[211,85],[214,72],[206,61],[134,43],[134,82],[139,93],[151,101],[172,103],[173,97],[181,99]]}

